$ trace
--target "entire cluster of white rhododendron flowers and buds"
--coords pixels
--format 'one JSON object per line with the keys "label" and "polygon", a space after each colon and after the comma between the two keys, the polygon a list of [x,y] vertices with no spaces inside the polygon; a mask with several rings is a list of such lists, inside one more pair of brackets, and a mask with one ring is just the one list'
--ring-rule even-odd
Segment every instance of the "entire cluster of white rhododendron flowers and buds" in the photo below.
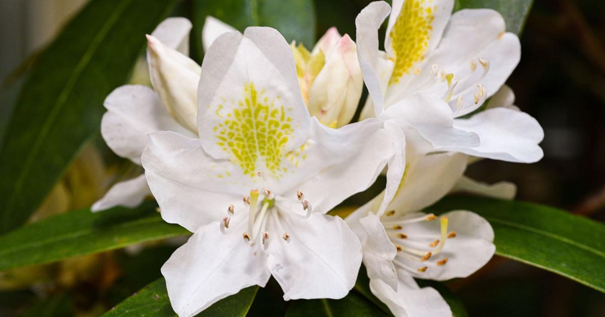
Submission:
{"label": "entire cluster of white rhododendron flowers and buds", "polygon": [[[311,51],[273,28],[242,34],[208,17],[201,66],[186,55],[186,19],[147,36],[152,89],[117,88],[102,121],[108,146],[145,174],[94,210],[152,194],[166,222],[193,232],[162,267],[178,315],[271,276],[285,300],[342,298],[363,261],[394,315],[451,316],[413,278],[472,274],[494,254],[494,232],[471,211],[423,208],[451,191],[512,198],[514,185],[474,182],[466,166],[538,161],[543,138],[503,85],[517,36],[496,11],[452,14],[453,2],[372,2],[356,42],[331,28]],[[364,83],[370,96],[350,123]],[[381,194],[345,220],[327,215],[383,171]]]}

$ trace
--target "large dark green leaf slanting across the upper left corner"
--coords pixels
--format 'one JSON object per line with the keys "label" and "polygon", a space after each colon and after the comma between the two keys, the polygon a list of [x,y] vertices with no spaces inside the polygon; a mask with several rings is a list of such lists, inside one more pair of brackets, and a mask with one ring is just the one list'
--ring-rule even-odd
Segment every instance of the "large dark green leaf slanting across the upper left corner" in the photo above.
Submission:
{"label": "large dark green leaf slanting across the upper left corner", "polygon": [[126,82],[145,33],[174,3],[93,0],[41,54],[0,151],[0,232],[28,219],[99,131],[103,100]]}

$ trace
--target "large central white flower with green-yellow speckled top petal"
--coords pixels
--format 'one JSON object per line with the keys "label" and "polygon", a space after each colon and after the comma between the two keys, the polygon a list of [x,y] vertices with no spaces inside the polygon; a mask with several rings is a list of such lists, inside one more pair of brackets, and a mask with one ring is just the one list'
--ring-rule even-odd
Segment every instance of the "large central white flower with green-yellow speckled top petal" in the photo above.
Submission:
{"label": "large central white flower with green-yellow speckled top petal", "polygon": [[195,315],[270,275],[286,300],[345,296],[361,245],[324,214],[384,168],[382,122],[335,130],[311,118],[286,40],[250,27],[206,52],[197,126],[199,138],[152,133],[142,155],[163,219],[194,232],[162,267],[175,312]]}

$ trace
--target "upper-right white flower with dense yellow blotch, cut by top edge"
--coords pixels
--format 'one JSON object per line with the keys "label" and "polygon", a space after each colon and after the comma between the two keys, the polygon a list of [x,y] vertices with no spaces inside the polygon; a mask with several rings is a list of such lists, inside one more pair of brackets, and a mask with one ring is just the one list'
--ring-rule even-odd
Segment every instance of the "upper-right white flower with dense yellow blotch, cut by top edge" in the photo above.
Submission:
{"label": "upper-right white flower with dense yellow blotch, cut by top edge", "polygon": [[[453,0],[372,2],[356,18],[358,56],[371,98],[364,117],[393,121],[406,138],[426,139],[425,152],[458,152],[511,162],[535,162],[543,152],[540,124],[509,107],[462,118],[503,85],[518,63],[517,36],[494,10],[460,10]],[[385,51],[378,28],[390,14]],[[394,161],[405,162],[399,156]],[[389,164],[385,201],[404,173]],[[395,169],[395,170],[393,170]],[[389,175],[390,173],[390,175]]]}

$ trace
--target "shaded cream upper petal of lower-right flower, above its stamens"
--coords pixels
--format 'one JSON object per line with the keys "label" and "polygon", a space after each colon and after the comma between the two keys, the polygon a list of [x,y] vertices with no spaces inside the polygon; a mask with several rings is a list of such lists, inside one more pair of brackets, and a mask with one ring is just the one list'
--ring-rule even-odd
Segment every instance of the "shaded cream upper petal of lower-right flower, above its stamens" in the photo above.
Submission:
{"label": "shaded cream upper petal of lower-right flower, above its stamens", "polygon": [[422,210],[447,194],[466,168],[461,154],[439,153],[408,157],[405,176],[387,210],[405,214]]}

